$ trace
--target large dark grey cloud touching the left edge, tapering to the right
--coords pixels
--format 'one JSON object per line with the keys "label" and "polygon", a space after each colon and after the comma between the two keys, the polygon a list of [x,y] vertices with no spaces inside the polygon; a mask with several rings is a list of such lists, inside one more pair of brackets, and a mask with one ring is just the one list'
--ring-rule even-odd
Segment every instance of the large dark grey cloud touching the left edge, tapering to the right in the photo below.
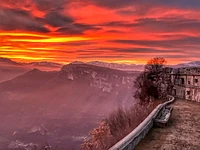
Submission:
{"label": "large dark grey cloud touching the left edge, tapering to the right", "polygon": [[0,9],[1,30],[24,30],[49,32],[44,24],[37,21],[29,12],[21,9]]}

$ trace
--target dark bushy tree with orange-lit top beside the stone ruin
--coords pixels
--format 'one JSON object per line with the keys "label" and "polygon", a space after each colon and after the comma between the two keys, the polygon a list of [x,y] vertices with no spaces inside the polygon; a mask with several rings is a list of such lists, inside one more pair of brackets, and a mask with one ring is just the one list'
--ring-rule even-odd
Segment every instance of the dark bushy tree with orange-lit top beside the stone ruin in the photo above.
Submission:
{"label": "dark bushy tree with orange-lit top beside the stone ruin", "polygon": [[166,60],[162,57],[150,59],[142,72],[134,81],[136,92],[134,97],[140,100],[141,104],[147,104],[163,96],[161,84],[163,82],[164,66]]}

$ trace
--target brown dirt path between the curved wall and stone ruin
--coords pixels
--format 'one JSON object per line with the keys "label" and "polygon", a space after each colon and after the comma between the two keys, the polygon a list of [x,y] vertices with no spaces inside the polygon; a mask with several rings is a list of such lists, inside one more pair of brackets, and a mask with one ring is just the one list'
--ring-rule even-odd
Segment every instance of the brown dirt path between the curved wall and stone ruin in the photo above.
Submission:
{"label": "brown dirt path between the curved wall and stone ruin", "polygon": [[200,103],[178,99],[166,128],[152,128],[136,150],[200,150]]}

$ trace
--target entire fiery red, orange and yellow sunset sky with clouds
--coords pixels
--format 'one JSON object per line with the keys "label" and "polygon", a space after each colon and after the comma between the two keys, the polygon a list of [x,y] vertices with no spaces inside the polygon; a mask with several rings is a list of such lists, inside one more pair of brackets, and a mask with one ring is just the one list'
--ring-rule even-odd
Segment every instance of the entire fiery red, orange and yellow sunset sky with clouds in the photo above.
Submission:
{"label": "entire fiery red, orange and yellow sunset sky with clouds", "polygon": [[200,0],[0,0],[0,57],[168,64],[200,58]]}

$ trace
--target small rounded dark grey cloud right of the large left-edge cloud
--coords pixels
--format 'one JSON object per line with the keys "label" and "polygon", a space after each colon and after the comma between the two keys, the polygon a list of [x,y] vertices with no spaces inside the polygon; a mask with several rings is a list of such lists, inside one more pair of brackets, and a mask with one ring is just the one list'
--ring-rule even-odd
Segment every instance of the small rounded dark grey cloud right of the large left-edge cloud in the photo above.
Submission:
{"label": "small rounded dark grey cloud right of the large left-edge cloud", "polygon": [[69,16],[64,16],[57,12],[50,12],[45,16],[47,24],[53,27],[63,27],[65,25],[71,24],[74,20]]}

